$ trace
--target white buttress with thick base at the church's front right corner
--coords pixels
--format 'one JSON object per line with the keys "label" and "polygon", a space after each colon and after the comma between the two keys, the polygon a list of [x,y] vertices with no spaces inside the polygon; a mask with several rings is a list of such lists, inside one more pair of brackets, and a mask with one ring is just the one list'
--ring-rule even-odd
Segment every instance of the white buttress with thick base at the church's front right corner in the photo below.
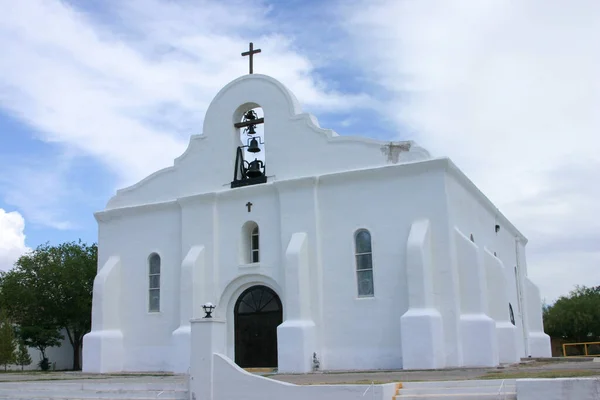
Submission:
{"label": "white buttress with thick base at the church's front right corner", "polygon": [[431,232],[428,220],[412,224],[406,244],[408,311],[400,318],[404,369],[445,366],[442,316],[433,299]]}

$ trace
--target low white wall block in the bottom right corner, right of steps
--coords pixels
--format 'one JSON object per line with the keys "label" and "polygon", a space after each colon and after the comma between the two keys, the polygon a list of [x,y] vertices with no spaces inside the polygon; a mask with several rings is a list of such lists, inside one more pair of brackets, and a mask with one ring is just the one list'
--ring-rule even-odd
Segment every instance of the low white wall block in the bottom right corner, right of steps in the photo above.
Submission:
{"label": "low white wall block in the bottom right corner, right of steps", "polygon": [[598,400],[600,378],[518,379],[519,400]]}

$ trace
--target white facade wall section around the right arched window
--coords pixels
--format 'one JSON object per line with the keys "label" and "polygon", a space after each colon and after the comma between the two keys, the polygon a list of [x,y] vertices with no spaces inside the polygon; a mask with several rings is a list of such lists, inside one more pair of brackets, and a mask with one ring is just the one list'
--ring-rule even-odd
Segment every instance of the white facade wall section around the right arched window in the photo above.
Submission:
{"label": "white facade wall section around the right arched window", "polygon": [[[428,171],[425,165],[320,180],[323,368],[402,367],[400,318],[408,309],[406,241],[417,218],[431,221],[434,237],[441,234],[443,198],[442,171]],[[358,297],[358,229],[371,233],[373,297]]]}

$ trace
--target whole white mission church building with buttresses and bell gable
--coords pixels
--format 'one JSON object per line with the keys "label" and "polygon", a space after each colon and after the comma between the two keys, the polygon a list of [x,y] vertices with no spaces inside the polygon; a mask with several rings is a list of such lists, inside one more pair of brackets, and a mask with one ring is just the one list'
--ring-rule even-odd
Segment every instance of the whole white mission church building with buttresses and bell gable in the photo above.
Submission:
{"label": "whole white mission church building with buttresses and bell gable", "polygon": [[527,239],[490,200],[413,142],[319,127],[269,76],[225,86],[174,165],[95,216],[84,372],[187,372],[207,303],[243,368],[550,357]]}

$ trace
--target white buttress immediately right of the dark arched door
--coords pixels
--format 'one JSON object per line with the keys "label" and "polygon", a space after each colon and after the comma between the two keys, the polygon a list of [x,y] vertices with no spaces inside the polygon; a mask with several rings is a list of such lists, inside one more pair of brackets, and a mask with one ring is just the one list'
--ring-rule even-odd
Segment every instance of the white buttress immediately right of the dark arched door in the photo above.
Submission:
{"label": "white buttress immediately right of the dark arched door", "polygon": [[292,235],[285,256],[286,319],[277,327],[278,371],[306,373],[312,371],[312,355],[316,351],[306,233]]}

